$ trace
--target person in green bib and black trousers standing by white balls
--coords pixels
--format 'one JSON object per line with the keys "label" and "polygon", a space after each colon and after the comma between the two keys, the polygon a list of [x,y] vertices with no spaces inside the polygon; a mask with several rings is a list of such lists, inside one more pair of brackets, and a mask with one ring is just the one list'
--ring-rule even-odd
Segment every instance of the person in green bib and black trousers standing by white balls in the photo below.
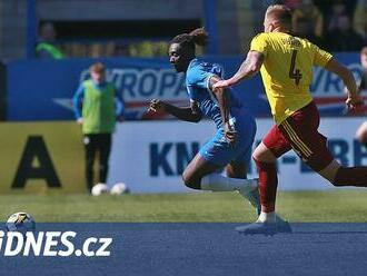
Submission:
{"label": "person in green bib and black trousers standing by white balls", "polygon": [[116,120],[122,121],[123,101],[113,83],[106,81],[106,69],[100,62],[89,68],[90,79],[76,91],[72,103],[78,124],[82,126],[86,148],[86,178],[93,186],[93,162],[99,152],[99,181],[106,183],[111,149],[111,134]]}

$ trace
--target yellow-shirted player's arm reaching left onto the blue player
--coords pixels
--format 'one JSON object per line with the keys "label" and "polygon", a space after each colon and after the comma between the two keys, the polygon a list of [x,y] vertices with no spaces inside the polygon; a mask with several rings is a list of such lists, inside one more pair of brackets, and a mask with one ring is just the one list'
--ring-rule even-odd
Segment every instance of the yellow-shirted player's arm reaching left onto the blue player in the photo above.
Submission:
{"label": "yellow-shirted player's arm reaching left onto the blue player", "polygon": [[241,63],[238,71],[230,79],[221,80],[215,83],[214,89],[230,87],[244,79],[252,77],[260,70],[262,62],[264,55],[261,52],[249,51],[247,53],[246,60]]}

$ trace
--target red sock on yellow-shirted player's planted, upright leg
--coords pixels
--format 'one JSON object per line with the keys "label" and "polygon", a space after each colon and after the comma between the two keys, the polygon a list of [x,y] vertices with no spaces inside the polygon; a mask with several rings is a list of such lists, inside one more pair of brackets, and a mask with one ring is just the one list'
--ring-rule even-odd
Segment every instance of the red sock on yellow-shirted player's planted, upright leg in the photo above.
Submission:
{"label": "red sock on yellow-shirted player's planted, upright leg", "polygon": [[275,162],[261,162],[254,158],[259,172],[259,194],[262,211],[275,211],[278,176]]}

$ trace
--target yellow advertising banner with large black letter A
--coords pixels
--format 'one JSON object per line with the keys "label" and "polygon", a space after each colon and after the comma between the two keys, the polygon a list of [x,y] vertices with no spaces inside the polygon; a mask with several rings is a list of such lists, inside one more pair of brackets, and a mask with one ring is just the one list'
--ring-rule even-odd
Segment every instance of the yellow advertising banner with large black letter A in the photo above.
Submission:
{"label": "yellow advertising banner with large black letter A", "polygon": [[72,121],[0,124],[0,194],[86,193],[83,164]]}

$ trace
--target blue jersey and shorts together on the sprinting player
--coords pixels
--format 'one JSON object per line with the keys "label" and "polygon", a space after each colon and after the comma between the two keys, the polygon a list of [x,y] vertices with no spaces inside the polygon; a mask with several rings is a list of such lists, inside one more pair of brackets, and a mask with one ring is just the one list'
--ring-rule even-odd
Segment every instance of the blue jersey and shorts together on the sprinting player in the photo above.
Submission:
{"label": "blue jersey and shorts together on the sprinting player", "polygon": [[249,162],[256,134],[255,119],[238,100],[231,98],[229,122],[238,132],[238,138],[235,145],[228,144],[218,101],[209,89],[209,80],[212,76],[222,78],[222,67],[199,59],[191,60],[186,71],[186,86],[190,100],[196,101],[201,112],[211,118],[217,126],[216,135],[200,148],[199,154],[207,161],[218,166],[226,166],[230,161]]}

